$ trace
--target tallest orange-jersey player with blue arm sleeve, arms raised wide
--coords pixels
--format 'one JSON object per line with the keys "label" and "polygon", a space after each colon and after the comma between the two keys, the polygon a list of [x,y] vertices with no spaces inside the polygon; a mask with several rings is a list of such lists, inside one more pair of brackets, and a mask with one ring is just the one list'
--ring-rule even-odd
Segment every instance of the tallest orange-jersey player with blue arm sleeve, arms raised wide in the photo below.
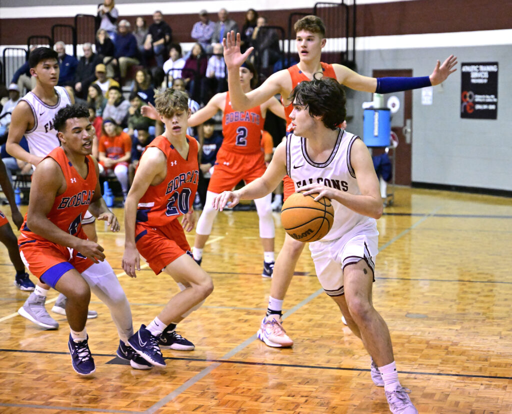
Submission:
{"label": "tallest orange-jersey player with blue arm sleeve, arms raised wide", "polygon": [[[258,88],[246,92],[238,82],[240,65],[252,52],[249,48],[244,54],[240,53],[240,36],[227,33],[224,39],[224,60],[228,72],[228,86],[231,104],[234,108],[244,110],[258,105],[270,97],[280,94],[283,105],[291,105],[288,97],[291,91],[302,80],[312,80],[317,73],[325,77],[332,77],[340,84],[355,90],[377,93],[390,93],[399,90],[416,89],[424,86],[437,85],[443,82],[455,71],[457,58],[448,57],[442,64],[437,61],[434,72],[430,76],[412,78],[371,78],[362,76],[340,64],[326,65],[320,60],[322,49],[326,45],[325,26],[317,16],[305,16],[294,25],[296,32],[296,46],[300,62],[290,70],[281,70],[268,77]],[[287,108],[287,113],[291,112]],[[290,125],[290,119],[287,120]],[[294,191],[292,183],[285,181],[285,198]],[[290,347],[293,341],[282,328],[283,301],[293,277],[295,265],[304,248],[304,243],[285,236],[281,252],[275,261],[274,273],[270,287],[269,305],[267,315],[263,318],[258,331],[258,337],[270,347]],[[378,373],[377,373],[378,374]],[[376,375],[375,378],[378,378]],[[379,384],[381,381],[379,381]]]}

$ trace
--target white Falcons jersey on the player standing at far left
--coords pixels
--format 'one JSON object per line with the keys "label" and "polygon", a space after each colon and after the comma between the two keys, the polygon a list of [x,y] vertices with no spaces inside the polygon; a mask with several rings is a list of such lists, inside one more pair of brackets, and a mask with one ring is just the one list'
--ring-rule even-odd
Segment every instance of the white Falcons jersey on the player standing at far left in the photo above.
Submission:
{"label": "white Falcons jersey on the player standing at far left", "polygon": [[68,91],[62,86],[55,86],[58,96],[53,106],[42,102],[33,92],[29,92],[22,100],[27,102],[34,114],[34,127],[25,132],[29,152],[38,157],[44,157],[60,146],[57,131],[53,128],[53,118],[60,108],[71,104]]}

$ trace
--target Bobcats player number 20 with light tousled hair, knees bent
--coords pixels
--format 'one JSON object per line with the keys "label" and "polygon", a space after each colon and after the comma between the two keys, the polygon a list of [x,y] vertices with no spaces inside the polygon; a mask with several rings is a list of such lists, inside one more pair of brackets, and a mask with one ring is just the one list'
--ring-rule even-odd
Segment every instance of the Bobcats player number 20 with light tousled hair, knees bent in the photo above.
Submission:
{"label": "Bobcats player number 20 with light tousled hair, knees bent", "polygon": [[[199,180],[198,143],[186,134],[188,97],[169,88],[156,97],[155,105],[165,132],[142,153],[126,197],[122,266],[126,274],[136,277],[140,253],[156,274],[163,271],[178,283],[180,292],[147,328],[142,325],[129,339],[147,362],[165,366],[160,348],[194,349],[192,342],[176,332],[176,325],[199,308],[214,287],[192,259],[183,231],[183,227],[187,232],[194,228],[192,204]],[[177,219],[181,216],[180,224]]]}

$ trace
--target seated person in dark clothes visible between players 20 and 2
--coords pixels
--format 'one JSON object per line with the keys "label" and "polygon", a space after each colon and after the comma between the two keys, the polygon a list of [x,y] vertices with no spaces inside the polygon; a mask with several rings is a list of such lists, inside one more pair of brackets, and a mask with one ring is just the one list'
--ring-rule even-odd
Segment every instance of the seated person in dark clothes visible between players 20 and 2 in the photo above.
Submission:
{"label": "seated person in dark clothes visible between players 20 and 2", "polygon": [[215,165],[217,152],[222,145],[222,132],[215,130],[215,120],[213,118],[207,120],[203,124],[203,142],[201,145],[201,157],[199,168],[200,174],[197,192],[201,205],[206,201],[206,190],[210,182],[211,170]]}

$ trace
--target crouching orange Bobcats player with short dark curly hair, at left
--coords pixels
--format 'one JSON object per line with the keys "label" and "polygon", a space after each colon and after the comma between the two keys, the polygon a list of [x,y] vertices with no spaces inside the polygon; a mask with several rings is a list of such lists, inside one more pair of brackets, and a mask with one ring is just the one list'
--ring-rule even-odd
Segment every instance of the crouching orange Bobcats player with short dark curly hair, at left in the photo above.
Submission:
{"label": "crouching orange Bobcats player with short dark curly hair, at left", "polygon": [[116,217],[101,197],[98,165],[90,155],[94,131],[88,117],[86,107],[68,105],[53,119],[61,146],[34,172],[19,250],[38,279],[67,296],[68,347],[78,374],[95,371],[86,331],[91,290],[111,311],[120,337],[117,354],[137,369],[149,369],[151,364],[127,344],[133,325],[126,295],[104,260],[103,247],[88,240],[82,229],[82,217],[89,209],[113,232],[119,231]]}

